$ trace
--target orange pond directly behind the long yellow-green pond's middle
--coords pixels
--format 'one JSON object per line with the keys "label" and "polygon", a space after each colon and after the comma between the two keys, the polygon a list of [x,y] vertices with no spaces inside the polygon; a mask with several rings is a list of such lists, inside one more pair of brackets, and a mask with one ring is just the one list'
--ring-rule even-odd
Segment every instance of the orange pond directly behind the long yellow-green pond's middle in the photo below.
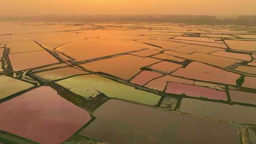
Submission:
{"label": "orange pond directly behind the long yellow-green pond's middle", "polygon": [[81,64],[81,66],[92,72],[104,72],[128,80],[140,72],[140,68],[160,61],[161,60],[155,58],[143,58],[125,54],[105,60]]}

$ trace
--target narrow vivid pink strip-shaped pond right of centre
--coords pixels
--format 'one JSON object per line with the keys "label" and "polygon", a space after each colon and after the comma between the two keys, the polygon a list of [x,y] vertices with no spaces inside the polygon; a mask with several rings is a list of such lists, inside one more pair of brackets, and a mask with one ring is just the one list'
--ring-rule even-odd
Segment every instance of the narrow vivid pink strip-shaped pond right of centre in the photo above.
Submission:
{"label": "narrow vivid pink strip-shaped pond right of centre", "polygon": [[183,83],[169,82],[167,84],[165,92],[178,95],[185,94],[186,96],[197,98],[204,97],[207,99],[227,100],[227,94],[225,91],[219,91],[206,87],[199,87]]}

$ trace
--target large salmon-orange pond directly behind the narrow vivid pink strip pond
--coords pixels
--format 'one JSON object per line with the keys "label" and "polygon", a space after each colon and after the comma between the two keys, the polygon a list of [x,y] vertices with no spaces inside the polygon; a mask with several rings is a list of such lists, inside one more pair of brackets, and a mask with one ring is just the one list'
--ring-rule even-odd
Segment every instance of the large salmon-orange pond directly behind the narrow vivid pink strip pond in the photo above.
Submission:
{"label": "large salmon-orange pond directly behind the narrow vivid pink strip pond", "polygon": [[172,75],[229,85],[236,85],[237,80],[240,77],[239,74],[224,71],[219,68],[198,62],[192,62],[186,68],[180,68],[172,73]]}

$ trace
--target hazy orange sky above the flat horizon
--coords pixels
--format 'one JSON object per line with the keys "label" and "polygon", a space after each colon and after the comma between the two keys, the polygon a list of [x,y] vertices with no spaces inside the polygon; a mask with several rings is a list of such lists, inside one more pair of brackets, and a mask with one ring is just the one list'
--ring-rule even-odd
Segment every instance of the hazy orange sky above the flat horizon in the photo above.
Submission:
{"label": "hazy orange sky above the flat horizon", "polygon": [[0,0],[0,15],[256,15],[256,0]]}

